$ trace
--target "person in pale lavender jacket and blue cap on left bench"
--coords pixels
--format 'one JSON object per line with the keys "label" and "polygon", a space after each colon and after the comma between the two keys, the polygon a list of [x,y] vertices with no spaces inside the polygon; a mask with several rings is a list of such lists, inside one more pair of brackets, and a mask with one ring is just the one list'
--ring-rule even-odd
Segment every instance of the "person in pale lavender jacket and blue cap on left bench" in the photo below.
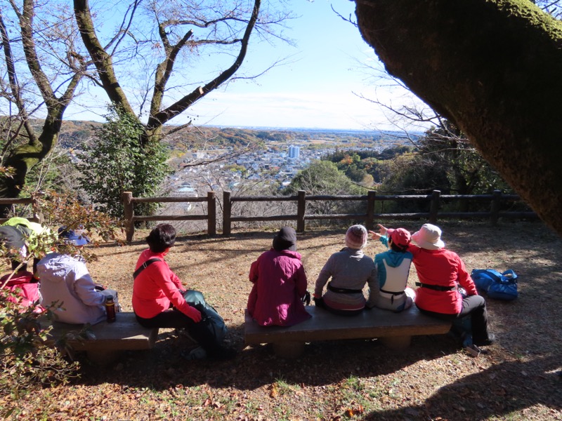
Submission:
{"label": "person in pale lavender jacket and blue cap on left bench", "polygon": [[[75,246],[84,246],[87,243],[84,236],[72,231],[63,232],[61,236]],[[53,302],[60,305],[60,308],[55,310],[55,321],[72,324],[99,323],[106,318],[107,295],[111,295],[118,306],[117,291],[99,290],[88,272],[86,261],[79,255],[50,253],[39,260],[37,274],[41,279],[41,305],[47,307]]]}

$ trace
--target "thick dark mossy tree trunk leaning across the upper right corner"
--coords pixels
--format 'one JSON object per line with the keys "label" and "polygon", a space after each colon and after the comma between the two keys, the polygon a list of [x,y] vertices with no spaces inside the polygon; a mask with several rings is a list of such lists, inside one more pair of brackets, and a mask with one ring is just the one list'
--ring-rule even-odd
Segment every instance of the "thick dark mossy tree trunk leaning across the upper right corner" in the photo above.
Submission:
{"label": "thick dark mossy tree trunk leaning across the upper right corner", "polygon": [[357,0],[386,67],[562,235],[562,22],[528,0]]}

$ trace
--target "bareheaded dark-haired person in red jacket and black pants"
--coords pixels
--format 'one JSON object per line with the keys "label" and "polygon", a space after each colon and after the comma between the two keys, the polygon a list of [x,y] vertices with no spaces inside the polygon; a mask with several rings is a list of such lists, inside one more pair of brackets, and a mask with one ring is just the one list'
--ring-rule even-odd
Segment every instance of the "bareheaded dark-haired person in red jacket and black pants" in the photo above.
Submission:
{"label": "bareheaded dark-haired person in red jacket and black pants", "polygon": [[[230,359],[234,349],[218,343],[214,335],[200,323],[198,309],[183,298],[183,286],[172,272],[164,257],[176,242],[176,229],[169,224],[159,224],[146,237],[148,247],[136,263],[133,283],[133,311],[138,323],[146,328],[185,328],[208,356],[214,359]],[[147,264],[148,260],[155,261]]]}

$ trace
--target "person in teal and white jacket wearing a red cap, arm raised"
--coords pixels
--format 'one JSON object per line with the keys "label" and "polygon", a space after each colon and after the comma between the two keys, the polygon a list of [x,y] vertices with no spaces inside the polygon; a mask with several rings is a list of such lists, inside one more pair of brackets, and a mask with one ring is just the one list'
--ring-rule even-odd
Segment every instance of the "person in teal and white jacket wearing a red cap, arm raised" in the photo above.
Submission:
{"label": "person in teal and white jacket wearing a red cap, arm raised", "polygon": [[412,253],[407,250],[410,245],[410,232],[406,229],[388,229],[386,236],[370,231],[373,239],[380,239],[389,250],[374,256],[377,269],[379,294],[368,303],[371,307],[401,312],[412,307],[416,293],[407,286]]}

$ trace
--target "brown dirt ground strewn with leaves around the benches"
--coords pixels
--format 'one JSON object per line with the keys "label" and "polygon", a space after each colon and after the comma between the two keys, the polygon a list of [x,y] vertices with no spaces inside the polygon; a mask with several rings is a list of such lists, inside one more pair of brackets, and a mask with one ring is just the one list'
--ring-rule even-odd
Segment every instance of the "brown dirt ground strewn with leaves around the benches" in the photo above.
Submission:
{"label": "brown dirt ground strewn with leaves around the benches", "polygon": [[[392,226],[392,225],[389,225]],[[408,223],[412,232],[419,223]],[[540,222],[444,222],[447,248],[467,269],[514,269],[520,297],[488,300],[497,343],[473,358],[446,335],[418,336],[405,352],[377,340],[313,342],[296,360],[266,346],[244,347],[249,266],[275,228],[238,229],[230,238],[180,236],[166,260],[201,290],[228,324],[240,352],[223,362],[185,361],[185,338],[159,335],[155,349],[129,352],[107,368],[81,361],[70,385],[40,388],[19,401],[0,396],[14,420],[562,420],[562,240]],[[308,290],[344,246],[345,228],[298,236]],[[119,290],[131,311],[132,276],[145,248],[103,245],[89,264],[96,281]],[[370,241],[366,253],[384,251]],[[417,281],[412,265],[409,284]]]}

